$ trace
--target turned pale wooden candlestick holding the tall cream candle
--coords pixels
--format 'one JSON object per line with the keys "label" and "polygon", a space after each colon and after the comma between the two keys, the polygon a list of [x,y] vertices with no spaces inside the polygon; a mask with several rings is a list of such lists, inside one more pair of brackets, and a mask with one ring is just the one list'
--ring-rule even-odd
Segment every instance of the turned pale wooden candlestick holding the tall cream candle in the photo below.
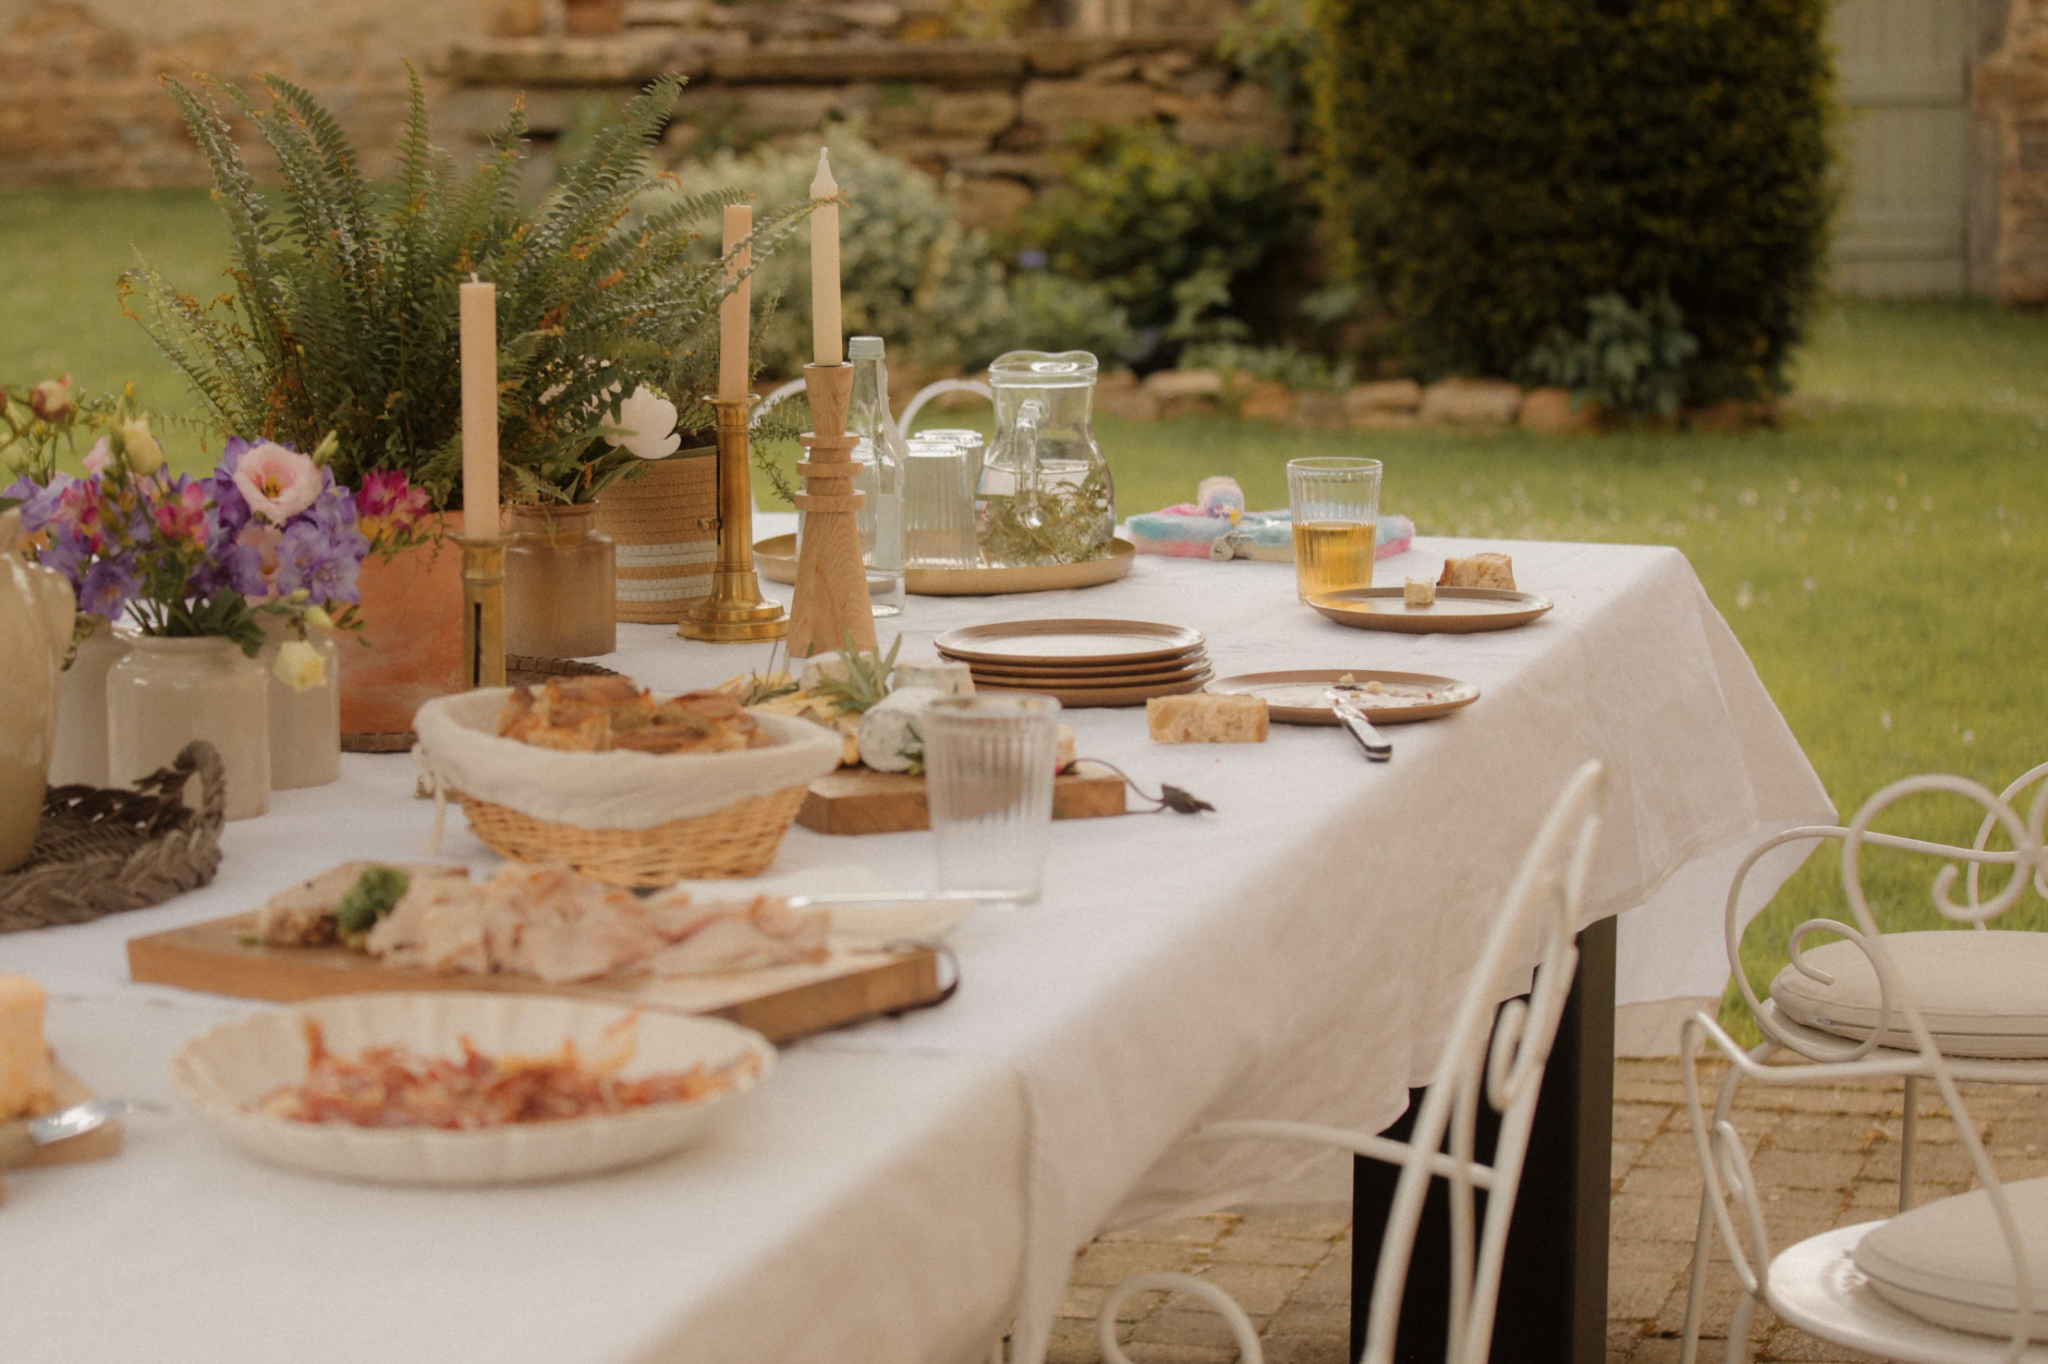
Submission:
{"label": "turned pale wooden candlestick holding the tall cream candle", "polygon": [[797,465],[803,492],[803,545],[797,549],[797,600],[788,608],[788,655],[811,657],[852,643],[874,651],[874,608],[868,602],[868,567],[860,557],[854,512],[866,502],[854,492],[858,440],[846,434],[854,397],[852,365],[805,365],[803,387],[811,397],[811,426],[803,434],[807,459]]}

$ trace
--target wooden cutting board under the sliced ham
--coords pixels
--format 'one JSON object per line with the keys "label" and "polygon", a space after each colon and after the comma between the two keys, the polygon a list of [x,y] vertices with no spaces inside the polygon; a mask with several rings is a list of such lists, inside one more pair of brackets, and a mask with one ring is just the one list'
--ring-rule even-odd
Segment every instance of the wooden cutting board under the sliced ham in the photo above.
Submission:
{"label": "wooden cutting board under the sliced ham", "polygon": [[602,999],[662,1014],[711,1014],[770,1042],[840,1028],[940,997],[930,948],[885,952],[834,946],[817,965],[723,975],[625,977],[549,985],[518,975],[440,975],[379,965],[344,946],[274,948],[246,942],[254,913],[129,940],[129,977],[242,999],[317,999],[373,989],[502,989]]}

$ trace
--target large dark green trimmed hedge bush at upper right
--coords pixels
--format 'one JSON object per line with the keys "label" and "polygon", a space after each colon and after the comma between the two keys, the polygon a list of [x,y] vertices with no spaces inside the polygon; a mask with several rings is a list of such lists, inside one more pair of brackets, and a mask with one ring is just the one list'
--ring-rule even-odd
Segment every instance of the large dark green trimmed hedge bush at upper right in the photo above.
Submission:
{"label": "large dark green trimmed hedge bush at upper right", "polygon": [[1694,401],[1782,391],[1833,207],[1823,0],[1317,0],[1319,193],[1427,375],[1669,295]]}

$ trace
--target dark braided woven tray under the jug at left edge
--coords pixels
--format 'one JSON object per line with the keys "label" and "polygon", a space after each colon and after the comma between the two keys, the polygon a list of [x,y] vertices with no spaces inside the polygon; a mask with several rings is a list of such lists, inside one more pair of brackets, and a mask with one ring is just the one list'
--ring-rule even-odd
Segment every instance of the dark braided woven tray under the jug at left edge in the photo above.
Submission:
{"label": "dark braided woven tray under the jug at left edge", "polygon": [[[201,803],[184,803],[199,774]],[[227,774],[205,739],[133,791],[53,786],[29,860],[0,877],[0,932],[84,924],[160,905],[213,881]]]}

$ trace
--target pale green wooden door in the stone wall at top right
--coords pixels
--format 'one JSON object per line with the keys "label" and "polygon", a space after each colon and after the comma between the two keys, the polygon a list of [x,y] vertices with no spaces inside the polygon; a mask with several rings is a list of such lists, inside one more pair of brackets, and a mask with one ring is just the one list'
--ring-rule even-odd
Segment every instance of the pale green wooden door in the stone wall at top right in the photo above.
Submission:
{"label": "pale green wooden door in the stone wall at top right", "polygon": [[1839,0],[1833,41],[1847,104],[1835,289],[1962,293],[1970,0]]}

